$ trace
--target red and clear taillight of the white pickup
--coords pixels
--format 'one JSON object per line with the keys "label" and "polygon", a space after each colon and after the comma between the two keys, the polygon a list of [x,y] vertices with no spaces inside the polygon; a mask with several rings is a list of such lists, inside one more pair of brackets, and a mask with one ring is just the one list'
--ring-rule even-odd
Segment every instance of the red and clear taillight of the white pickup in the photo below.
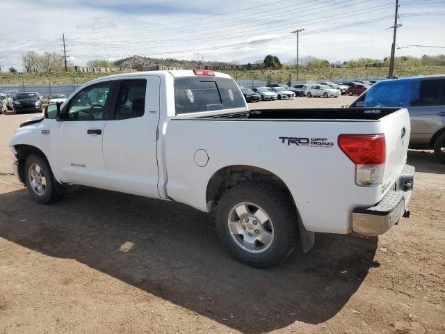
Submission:
{"label": "red and clear taillight of the white pickup", "polygon": [[341,134],[339,148],[355,164],[357,186],[382,184],[385,171],[385,134]]}

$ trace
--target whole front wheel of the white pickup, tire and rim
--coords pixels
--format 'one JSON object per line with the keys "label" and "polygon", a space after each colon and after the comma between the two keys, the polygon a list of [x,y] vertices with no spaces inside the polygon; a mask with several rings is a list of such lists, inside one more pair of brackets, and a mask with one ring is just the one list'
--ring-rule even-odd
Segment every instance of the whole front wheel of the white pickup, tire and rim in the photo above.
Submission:
{"label": "whole front wheel of the white pickup, tire and rim", "polygon": [[26,158],[24,172],[26,188],[33,200],[40,204],[49,204],[60,199],[61,194],[51,168],[42,157],[31,154]]}

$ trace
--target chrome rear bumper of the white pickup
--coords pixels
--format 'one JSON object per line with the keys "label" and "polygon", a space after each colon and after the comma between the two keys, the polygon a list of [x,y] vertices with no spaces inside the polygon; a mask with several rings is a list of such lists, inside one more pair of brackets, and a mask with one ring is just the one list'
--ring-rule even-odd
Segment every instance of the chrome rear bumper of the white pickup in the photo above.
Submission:
{"label": "chrome rear bumper of the white pickup", "polygon": [[410,216],[408,205],[414,186],[415,168],[405,165],[395,184],[374,207],[358,207],[353,212],[353,230],[365,236],[375,236],[387,232],[401,220]]}

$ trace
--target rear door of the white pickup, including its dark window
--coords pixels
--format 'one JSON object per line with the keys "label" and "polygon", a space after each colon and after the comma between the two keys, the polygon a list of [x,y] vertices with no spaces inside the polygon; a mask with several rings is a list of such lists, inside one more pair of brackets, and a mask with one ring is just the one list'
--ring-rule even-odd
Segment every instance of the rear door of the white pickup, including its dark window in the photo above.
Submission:
{"label": "rear door of the white pickup, including its dark window", "polygon": [[156,145],[159,86],[156,76],[119,82],[104,130],[104,159],[111,189],[159,198]]}

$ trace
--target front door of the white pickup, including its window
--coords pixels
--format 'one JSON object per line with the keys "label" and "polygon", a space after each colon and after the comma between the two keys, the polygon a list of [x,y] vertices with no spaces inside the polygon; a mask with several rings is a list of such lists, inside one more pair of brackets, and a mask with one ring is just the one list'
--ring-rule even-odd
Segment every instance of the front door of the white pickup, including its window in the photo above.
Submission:
{"label": "front door of the white pickup, including its window", "polygon": [[63,107],[67,118],[51,127],[51,161],[62,182],[109,188],[102,140],[112,82],[83,88]]}

